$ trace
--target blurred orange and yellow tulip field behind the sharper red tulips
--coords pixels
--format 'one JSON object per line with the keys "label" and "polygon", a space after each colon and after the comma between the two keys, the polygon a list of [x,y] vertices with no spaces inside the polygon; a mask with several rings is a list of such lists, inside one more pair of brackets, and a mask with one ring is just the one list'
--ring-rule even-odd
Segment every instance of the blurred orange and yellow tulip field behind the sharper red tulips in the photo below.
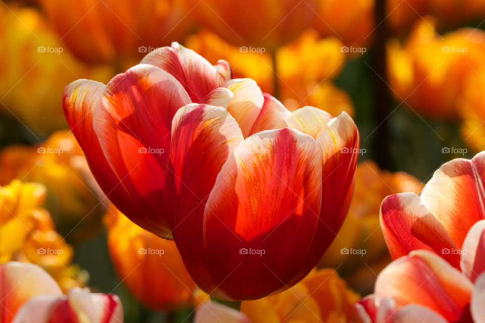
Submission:
{"label": "blurred orange and yellow tulip field behind the sharper red tulips", "polygon": [[[173,242],[131,223],[93,180],[62,111],[76,79],[106,84],[177,41],[291,111],[347,112],[363,148],[354,200],[305,281],[332,277],[314,296],[325,322],[357,321],[357,293],[391,261],[382,199],[418,193],[446,161],[485,150],[485,0],[0,2],[0,263],[39,263],[64,291],[113,292],[127,322],[191,321],[203,292]],[[64,253],[36,251],[49,246]],[[170,261],[137,259],[148,246]],[[341,254],[352,247],[368,252]]]}

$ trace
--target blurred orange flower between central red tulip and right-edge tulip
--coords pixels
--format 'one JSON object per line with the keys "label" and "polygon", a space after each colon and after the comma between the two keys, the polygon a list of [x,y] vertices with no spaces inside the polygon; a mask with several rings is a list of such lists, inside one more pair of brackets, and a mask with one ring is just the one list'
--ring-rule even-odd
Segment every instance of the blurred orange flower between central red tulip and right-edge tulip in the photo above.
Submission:
{"label": "blurred orange flower between central red tulip and right-edge tulip", "polygon": [[[318,267],[338,268],[352,288],[363,294],[372,292],[376,279],[372,271],[378,273],[392,261],[379,225],[380,203],[388,195],[419,193],[423,187],[424,184],[404,172],[380,170],[372,160],[358,164],[349,213]],[[366,250],[366,253],[342,252],[345,248]]]}

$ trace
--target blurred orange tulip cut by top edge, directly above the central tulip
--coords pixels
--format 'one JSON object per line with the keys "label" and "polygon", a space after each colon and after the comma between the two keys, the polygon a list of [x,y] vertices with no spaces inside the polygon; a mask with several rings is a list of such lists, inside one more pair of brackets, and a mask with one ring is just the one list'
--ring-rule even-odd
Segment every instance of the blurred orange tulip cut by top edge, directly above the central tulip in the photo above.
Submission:
{"label": "blurred orange tulip cut by top edge, directly above the central tulip", "polygon": [[[224,40],[237,46],[276,50],[296,39],[316,18],[318,0],[185,0],[186,9]],[[241,47],[241,50],[245,50]]]}

